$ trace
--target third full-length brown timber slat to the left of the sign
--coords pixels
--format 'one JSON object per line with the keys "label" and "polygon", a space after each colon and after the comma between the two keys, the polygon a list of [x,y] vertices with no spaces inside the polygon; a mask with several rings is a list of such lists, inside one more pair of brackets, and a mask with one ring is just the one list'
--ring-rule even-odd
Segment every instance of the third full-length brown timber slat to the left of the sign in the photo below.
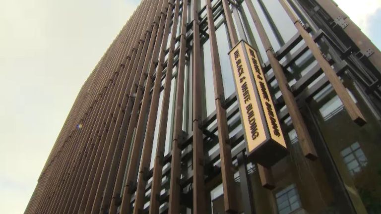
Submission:
{"label": "third full-length brown timber slat to the left of the sign", "polygon": [[[181,21],[180,34],[180,55],[177,72],[175,119],[172,140],[172,159],[171,159],[171,181],[169,189],[169,211],[168,214],[180,213],[180,164],[181,150],[179,141],[183,133],[183,97],[184,97],[184,72],[185,72],[185,53],[187,50],[187,18],[188,0],[183,0],[183,14]],[[161,178],[160,178],[161,179]]]}

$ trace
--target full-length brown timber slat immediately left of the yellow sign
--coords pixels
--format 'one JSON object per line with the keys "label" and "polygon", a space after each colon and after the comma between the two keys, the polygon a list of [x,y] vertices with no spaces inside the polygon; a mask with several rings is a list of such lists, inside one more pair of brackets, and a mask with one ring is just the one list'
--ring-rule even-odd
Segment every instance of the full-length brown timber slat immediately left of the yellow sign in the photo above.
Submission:
{"label": "full-length brown timber slat immediately left of the yellow sign", "polygon": [[210,53],[212,58],[212,71],[214,83],[214,99],[217,114],[218,144],[220,147],[221,177],[224,191],[225,212],[237,212],[237,202],[234,190],[234,173],[232,171],[232,154],[229,140],[228,121],[226,118],[224,86],[222,81],[220,57],[218,55],[218,45],[216,29],[214,26],[213,10],[211,0],[206,0],[206,15],[208,17]]}

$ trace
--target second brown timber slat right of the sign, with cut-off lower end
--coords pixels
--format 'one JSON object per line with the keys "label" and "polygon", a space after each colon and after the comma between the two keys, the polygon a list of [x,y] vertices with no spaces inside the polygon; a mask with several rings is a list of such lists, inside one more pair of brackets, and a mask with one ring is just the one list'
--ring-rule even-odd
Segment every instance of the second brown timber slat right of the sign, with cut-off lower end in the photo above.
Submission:
{"label": "second brown timber slat right of the sign, with cut-off lower end", "polygon": [[287,12],[288,16],[290,17],[290,19],[294,23],[296,29],[298,30],[299,34],[302,36],[302,38],[303,38],[304,42],[306,43],[306,45],[308,46],[308,48],[311,50],[315,59],[318,61],[318,64],[320,65],[321,69],[323,70],[328,81],[331,83],[331,85],[332,85],[333,89],[335,90],[337,96],[339,96],[341,102],[343,103],[343,105],[344,105],[345,109],[347,110],[351,119],[360,126],[366,124],[366,120],[365,120],[364,116],[362,115],[360,109],[356,106],[355,102],[349,96],[348,91],[345,89],[344,85],[341,83],[341,81],[340,81],[339,77],[336,75],[335,71],[332,69],[332,67],[329,65],[329,63],[321,55],[320,50],[318,48],[318,45],[315,43],[315,41],[312,39],[312,37],[304,29],[304,27],[299,22],[296,15],[289,8],[287,3],[284,0],[279,0],[279,2],[282,4],[284,10]]}

